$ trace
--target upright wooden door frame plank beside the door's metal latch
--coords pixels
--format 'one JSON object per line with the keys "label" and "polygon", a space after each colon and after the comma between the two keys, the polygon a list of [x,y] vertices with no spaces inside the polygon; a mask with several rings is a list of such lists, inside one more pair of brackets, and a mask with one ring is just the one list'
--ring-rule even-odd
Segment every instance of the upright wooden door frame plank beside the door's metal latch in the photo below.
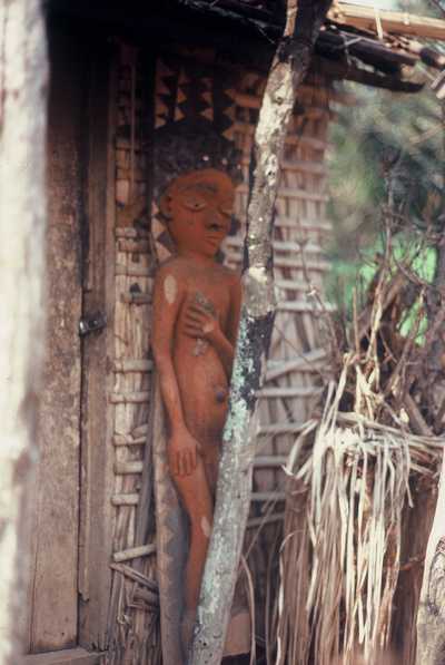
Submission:
{"label": "upright wooden door frame plank beside the door's metal latch", "polygon": [[117,60],[97,37],[89,92],[87,234],[83,316],[101,313],[106,327],[82,342],[79,534],[79,634],[82,647],[107,648],[115,509],[112,409],[115,317],[115,131]]}

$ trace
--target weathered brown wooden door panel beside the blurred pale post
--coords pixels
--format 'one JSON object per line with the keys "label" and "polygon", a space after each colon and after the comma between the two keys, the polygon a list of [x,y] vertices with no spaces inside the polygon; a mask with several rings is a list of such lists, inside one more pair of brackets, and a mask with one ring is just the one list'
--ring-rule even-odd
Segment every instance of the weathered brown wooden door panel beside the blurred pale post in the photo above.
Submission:
{"label": "weathered brown wooden door panel beside the blurred pale post", "polygon": [[86,59],[77,40],[59,33],[52,35],[50,55],[48,344],[39,408],[40,462],[31,528],[29,616],[24,627],[27,649],[32,653],[77,644],[78,625],[81,385],[78,325],[82,306],[81,130]]}

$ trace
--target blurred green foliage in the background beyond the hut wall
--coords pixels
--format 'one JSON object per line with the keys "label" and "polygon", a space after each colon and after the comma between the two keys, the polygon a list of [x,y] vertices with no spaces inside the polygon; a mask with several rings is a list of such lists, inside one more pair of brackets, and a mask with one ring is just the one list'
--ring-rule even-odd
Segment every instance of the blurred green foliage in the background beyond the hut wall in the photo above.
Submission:
{"label": "blurred green foliage in the background beyond the hut wall", "polygon": [[[339,107],[328,155],[334,233],[326,290],[347,319],[353,290],[366,290],[382,253],[384,206],[396,213],[394,260],[413,253],[413,270],[434,276],[427,238],[443,226],[442,108],[428,90],[392,94],[345,85],[357,104]],[[442,208],[442,209],[441,209]],[[414,258],[418,255],[417,258]]]}

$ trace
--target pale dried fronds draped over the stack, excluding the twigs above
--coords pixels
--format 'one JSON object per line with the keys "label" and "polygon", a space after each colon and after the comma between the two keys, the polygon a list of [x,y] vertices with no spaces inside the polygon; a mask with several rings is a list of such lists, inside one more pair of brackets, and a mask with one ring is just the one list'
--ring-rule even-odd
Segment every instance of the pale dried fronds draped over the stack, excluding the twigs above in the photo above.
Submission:
{"label": "pale dried fronds draped over the stack, excluding the twigs above", "polygon": [[352,665],[358,653],[379,662],[390,636],[409,473],[431,475],[443,449],[442,439],[339,412],[347,372],[346,362],[320,421],[298,438],[286,468],[277,665]]}

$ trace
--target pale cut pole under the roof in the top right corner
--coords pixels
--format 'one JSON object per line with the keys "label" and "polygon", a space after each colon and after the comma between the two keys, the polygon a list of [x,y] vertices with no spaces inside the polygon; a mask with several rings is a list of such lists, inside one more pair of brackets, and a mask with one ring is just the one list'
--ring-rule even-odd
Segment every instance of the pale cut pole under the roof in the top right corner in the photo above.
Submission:
{"label": "pale cut pole under the roof in the top right corner", "polygon": [[377,10],[372,7],[339,2],[330,9],[328,19],[336,23],[354,26],[360,30],[372,30],[373,32],[377,32],[379,21],[385,32],[445,40],[445,21],[404,11]]}

